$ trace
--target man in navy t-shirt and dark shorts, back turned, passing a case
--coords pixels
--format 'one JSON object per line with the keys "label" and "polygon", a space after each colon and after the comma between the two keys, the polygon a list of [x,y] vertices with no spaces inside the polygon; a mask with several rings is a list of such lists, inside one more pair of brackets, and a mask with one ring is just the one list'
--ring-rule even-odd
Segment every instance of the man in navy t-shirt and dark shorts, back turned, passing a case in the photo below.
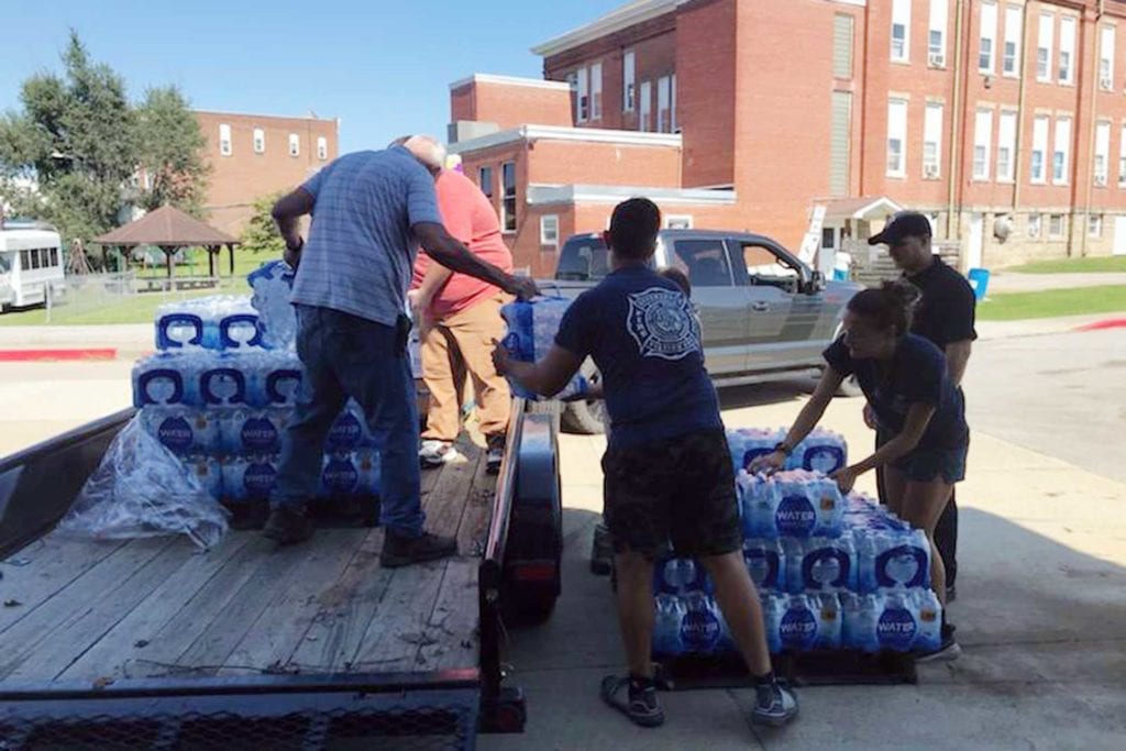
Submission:
{"label": "man in navy t-shirt and dark shorts, back turned, passing a case", "polygon": [[691,303],[650,268],[661,213],[645,198],[614,209],[606,244],[611,274],[568,309],[538,363],[503,348],[497,369],[529,391],[558,393],[587,357],[602,374],[613,431],[602,457],[606,525],[614,540],[618,617],[629,672],[602,680],[602,699],[638,725],[664,722],[650,660],[653,562],[671,542],[700,561],[756,680],[753,721],[797,714],[770,667],[754,583],[742,557],[735,477]]}

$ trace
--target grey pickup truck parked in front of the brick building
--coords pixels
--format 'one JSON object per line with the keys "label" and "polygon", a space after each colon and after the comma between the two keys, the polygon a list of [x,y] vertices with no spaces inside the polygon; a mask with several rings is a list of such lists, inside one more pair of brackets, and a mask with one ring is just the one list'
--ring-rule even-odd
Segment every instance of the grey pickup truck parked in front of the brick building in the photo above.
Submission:
{"label": "grey pickup truck parked in front of the brick building", "polygon": [[[739,232],[662,230],[653,266],[688,275],[705,363],[717,386],[816,373],[824,365],[822,350],[840,332],[846,303],[863,289],[826,281],[774,240]],[[607,274],[601,234],[577,234],[560,251],[555,278],[539,284],[548,294],[573,298]],[[598,381],[593,363],[583,365],[583,375]],[[846,384],[842,393],[859,390]],[[605,429],[601,402],[571,402],[562,417],[573,432]]]}

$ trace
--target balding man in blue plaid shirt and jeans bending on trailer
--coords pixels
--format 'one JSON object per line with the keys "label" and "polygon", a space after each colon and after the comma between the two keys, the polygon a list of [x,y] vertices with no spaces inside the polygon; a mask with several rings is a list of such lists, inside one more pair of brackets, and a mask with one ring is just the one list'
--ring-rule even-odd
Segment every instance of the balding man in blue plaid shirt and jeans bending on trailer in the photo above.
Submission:
{"label": "balding man in blue plaid shirt and jeans bending on trailer", "polygon": [[[381,562],[395,567],[453,555],[457,543],[423,529],[419,420],[406,342],[406,288],[418,245],[437,263],[510,294],[536,294],[471,253],[441,223],[434,178],[444,149],[401,138],[384,151],[346,154],[274,206],[297,267],[297,355],[305,378],[282,441],[277,488],[263,534],[280,545],[313,534],[307,504],[321,476],[324,438],[348,397],[364,411],[381,448]],[[312,214],[309,241],[300,217]]]}

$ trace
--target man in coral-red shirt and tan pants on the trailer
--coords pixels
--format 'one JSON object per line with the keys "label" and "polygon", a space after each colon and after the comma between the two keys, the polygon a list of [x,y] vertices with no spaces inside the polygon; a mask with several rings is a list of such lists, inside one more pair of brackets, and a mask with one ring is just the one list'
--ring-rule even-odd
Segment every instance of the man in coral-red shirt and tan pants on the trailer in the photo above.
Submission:
{"label": "man in coral-red shirt and tan pants on the trailer", "polygon": [[[489,198],[455,170],[435,180],[443,224],[470,251],[507,271],[512,254],[501,238],[500,221]],[[411,306],[420,322],[422,379],[430,391],[427,427],[419,459],[441,466],[457,456],[454,440],[461,431],[461,400],[454,363],[461,359],[473,382],[481,432],[489,444],[489,472],[500,470],[504,453],[511,394],[492,363],[493,341],[504,337],[500,307],[508,296],[497,287],[431,263],[425,251],[414,262]]]}

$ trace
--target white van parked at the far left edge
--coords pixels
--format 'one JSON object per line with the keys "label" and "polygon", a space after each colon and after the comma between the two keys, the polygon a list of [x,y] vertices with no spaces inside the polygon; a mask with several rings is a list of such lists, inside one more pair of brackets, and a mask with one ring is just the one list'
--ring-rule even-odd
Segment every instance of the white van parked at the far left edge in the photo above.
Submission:
{"label": "white van parked at the far left edge", "polygon": [[46,230],[0,230],[0,306],[27,307],[66,288],[62,239]]}

